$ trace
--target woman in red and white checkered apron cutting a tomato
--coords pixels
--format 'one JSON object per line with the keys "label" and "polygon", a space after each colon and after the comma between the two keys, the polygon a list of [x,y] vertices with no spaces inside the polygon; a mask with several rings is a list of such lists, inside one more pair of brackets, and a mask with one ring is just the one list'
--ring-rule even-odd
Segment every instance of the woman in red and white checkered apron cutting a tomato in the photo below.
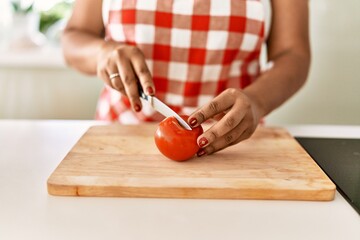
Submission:
{"label": "woman in red and white checkered apron cutting a tomato", "polygon": [[[139,82],[192,127],[218,120],[198,156],[249,138],[310,65],[306,0],[77,0],[62,41],[70,66],[105,82],[98,119],[161,120]],[[260,72],[263,42],[272,68]]]}

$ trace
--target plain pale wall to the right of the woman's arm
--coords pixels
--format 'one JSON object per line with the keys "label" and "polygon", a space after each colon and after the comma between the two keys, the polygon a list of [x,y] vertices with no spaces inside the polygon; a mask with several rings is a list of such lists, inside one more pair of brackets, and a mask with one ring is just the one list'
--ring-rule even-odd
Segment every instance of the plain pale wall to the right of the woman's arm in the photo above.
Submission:
{"label": "plain pale wall to the right of the woman's arm", "polygon": [[312,66],[270,124],[360,124],[360,1],[310,0]]}

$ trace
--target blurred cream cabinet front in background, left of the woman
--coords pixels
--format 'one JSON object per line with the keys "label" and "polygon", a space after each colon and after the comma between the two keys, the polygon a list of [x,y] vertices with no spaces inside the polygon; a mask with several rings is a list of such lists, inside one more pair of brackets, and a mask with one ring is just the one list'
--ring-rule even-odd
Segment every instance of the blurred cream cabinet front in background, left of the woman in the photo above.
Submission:
{"label": "blurred cream cabinet front in background, left of the woman", "polygon": [[62,67],[0,68],[0,118],[93,119],[101,87]]}

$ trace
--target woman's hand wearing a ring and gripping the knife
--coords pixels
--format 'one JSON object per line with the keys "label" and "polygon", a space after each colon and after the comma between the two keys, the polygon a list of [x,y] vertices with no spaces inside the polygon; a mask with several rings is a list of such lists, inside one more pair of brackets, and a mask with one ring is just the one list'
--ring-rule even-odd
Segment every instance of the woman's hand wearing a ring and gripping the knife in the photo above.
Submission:
{"label": "woman's hand wearing a ring and gripping the knife", "polygon": [[142,107],[138,82],[145,94],[155,94],[154,82],[144,54],[135,46],[113,41],[105,42],[97,61],[97,75],[108,86],[127,96],[136,112]]}

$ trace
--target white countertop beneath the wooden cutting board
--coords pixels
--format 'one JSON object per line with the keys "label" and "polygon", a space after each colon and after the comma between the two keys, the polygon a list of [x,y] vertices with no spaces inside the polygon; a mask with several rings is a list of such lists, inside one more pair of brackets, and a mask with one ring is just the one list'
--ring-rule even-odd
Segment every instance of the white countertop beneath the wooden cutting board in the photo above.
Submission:
{"label": "white countertop beneath the wooden cutting board", "polygon": [[[92,121],[0,120],[0,239],[360,239],[360,216],[331,202],[54,197],[46,180]],[[287,126],[360,138],[360,126]]]}

